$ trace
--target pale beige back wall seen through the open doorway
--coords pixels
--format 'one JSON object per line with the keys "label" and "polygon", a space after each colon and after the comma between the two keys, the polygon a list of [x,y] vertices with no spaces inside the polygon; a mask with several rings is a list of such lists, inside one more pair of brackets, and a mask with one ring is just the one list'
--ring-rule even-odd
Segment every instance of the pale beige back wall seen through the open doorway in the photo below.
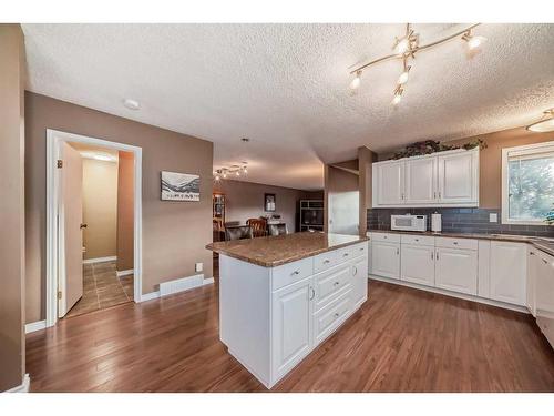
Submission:
{"label": "pale beige back wall seen through the open doorway", "polygon": [[84,258],[117,255],[117,163],[83,159]]}

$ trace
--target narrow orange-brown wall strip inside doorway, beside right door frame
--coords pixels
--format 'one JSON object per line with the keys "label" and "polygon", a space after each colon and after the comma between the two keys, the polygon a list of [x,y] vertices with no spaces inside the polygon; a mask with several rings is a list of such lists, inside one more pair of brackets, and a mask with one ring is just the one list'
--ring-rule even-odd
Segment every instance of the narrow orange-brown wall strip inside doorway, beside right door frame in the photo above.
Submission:
{"label": "narrow orange-brown wall strip inside doorway, beside right door frame", "polygon": [[133,268],[134,262],[134,156],[120,152],[117,172],[117,271]]}

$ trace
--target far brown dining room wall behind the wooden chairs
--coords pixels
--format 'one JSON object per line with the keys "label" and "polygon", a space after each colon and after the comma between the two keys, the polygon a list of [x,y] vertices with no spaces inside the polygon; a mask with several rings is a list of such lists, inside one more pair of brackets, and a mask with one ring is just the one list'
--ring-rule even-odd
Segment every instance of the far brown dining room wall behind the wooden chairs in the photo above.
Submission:
{"label": "far brown dining room wall behind the wooden chairs", "polygon": [[[297,203],[299,200],[320,195],[289,187],[264,185],[259,183],[222,180],[214,184],[214,191],[224,193],[226,196],[225,221],[239,221],[246,223],[248,219],[257,219],[260,215],[279,214],[283,222],[287,224],[289,232],[297,227]],[[274,193],[276,197],[276,211],[264,212],[264,194]]]}

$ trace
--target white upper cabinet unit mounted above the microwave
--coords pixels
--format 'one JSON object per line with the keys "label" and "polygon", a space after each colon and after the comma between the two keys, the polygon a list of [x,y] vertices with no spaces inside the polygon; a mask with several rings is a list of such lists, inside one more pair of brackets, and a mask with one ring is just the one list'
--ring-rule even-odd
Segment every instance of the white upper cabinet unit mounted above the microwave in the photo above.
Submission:
{"label": "white upper cabinet unit mounted above the microwave", "polygon": [[373,207],[479,206],[479,148],[372,165]]}

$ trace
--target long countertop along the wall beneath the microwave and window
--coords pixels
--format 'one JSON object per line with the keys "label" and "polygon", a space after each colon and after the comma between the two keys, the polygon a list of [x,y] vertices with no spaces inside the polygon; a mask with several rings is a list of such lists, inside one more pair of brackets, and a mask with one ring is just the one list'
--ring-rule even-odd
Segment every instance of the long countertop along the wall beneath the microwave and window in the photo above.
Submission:
{"label": "long countertop along the wall beneath the microwave and window", "polygon": [[417,234],[432,237],[453,237],[453,239],[475,239],[509,241],[514,243],[527,243],[536,248],[554,255],[554,239],[535,237],[517,234],[485,234],[485,233],[433,233],[431,231],[399,231],[399,230],[368,230],[369,233],[392,233],[392,234]]}

